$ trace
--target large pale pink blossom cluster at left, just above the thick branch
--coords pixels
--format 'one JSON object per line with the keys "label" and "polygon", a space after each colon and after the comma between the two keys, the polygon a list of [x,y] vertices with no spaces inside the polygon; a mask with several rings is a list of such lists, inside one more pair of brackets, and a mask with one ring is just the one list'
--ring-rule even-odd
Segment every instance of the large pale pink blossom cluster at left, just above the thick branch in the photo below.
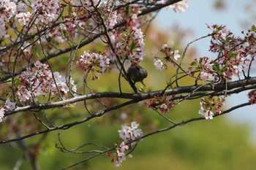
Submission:
{"label": "large pale pink blossom cluster at left, just above the thick branch", "polygon": [[[37,101],[37,96],[46,96],[50,93],[55,95],[67,93],[69,88],[65,77],[59,72],[51,72],[48,65],[37,61],[34,67],[29,67],[18,77],[19,83],[15,93],[21,102]],[[76,91],[76,85],[70,80],[72,90]]]}

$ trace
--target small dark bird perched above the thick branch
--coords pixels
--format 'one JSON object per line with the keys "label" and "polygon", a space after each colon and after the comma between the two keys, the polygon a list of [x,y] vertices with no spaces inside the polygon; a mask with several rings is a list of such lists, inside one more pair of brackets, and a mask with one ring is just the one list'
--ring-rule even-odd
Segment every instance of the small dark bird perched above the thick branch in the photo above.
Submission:
{"label": "small dark bird perched above the thick branch", "polygon": [[146,85],[143,83],[143,79],[148,76],[148,72],[146,71],[146,69],[143,69],[139,65],[132,64],[127,69],[127,74],[134,83],[141,82],[146,87]]}

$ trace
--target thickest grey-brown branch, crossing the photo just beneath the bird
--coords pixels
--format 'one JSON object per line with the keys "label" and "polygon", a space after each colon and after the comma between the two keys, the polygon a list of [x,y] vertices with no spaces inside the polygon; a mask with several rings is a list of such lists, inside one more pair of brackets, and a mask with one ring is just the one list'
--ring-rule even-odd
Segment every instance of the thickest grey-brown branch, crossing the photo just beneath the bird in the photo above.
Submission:
{"label": "thickest grey-brown branch, crossing the photo just beneath the bird", "polygon": [[[222,96],[223,90],[230,90],[229,94],[239,93],[244,90],[255,88],[255,84],[256,84],[256,77],[250,77],[249,79],[245,79],[245,80],[227,82],[227,86],[225,83],[220,83],[217,85],[208,84],[208,85],[180,86],[178,88],[166,90],[165,94],[167,96],[171,96],[171,95],[181,95],[184,93],[193,92],[191,96],[195,97],[195,96],[202,96],[202,92],[208,92],[208,93],[203,93],[204,94],[203,96],[206,96],[206,95]],[[239,89],[236,89],[236,88],[239,88]],[[16,109],[10,112],[6,112],[4,116],[6,117],[8,115],[12,115],[17,112],[23,112],[31,109],[51,109],[55,107],[64,107],[64,106],[67,106],[68,104],[73,104],[78,101],[84,101],[84,100],[95,99],[95,98],[127,98],[127,99],[133,99],[134,101],[138,102],[138,101],[146,100],[148,98],[154,98],[155,96],[159,96],[161,94],[162,94],[162,90],[151,91],[148,93],[116,93],[116,92],[91,93],[83,96],[75,96],[73,98],[68,98],[63,101],[56,101],[56,102],[45,103],[45,104],[34,104],[30,106],[25,106],[25,107],[17,107]]]}

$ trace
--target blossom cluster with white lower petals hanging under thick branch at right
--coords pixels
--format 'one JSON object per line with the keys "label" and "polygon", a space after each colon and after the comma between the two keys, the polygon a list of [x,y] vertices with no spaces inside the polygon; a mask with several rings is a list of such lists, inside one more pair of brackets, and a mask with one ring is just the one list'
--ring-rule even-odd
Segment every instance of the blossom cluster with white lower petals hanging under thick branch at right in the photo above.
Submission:
{"label": "blossom cluster with white lower petals hanging under thick branch at right", "polygon": [[222,96],[210,96],[207,98],[202,98],[202,100],[200,101],[200,110],[198,113],[200,115],[203,115],[206,119],[213,119],[214,112],[217,112],[219,114],[222,113],[221,107],[225,104],[224,101],[225,98],[223,98]]}

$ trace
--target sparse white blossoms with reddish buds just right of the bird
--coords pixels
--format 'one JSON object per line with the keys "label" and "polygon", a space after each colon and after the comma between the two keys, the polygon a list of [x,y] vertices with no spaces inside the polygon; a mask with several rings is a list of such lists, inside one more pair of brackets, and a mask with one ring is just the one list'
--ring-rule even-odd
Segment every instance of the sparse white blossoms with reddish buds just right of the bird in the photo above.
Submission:
{"label": "sparse white blossoms with reddish buds just right of the bird", "polygon": [[170,47],[168,47],[166,44],[162,45],[161,52],[165,54],[165,58],[162,60],[157,59],[157,56],[154,56],[154,66],[156,66],[157,69],[167,69],[167,63],[173,63],[174,66],[176,66],[176,63],[173,62],[173,58],[177,61],[178,58],[181,57],[181,55],[178,54],[178,50],[172,50]]}

